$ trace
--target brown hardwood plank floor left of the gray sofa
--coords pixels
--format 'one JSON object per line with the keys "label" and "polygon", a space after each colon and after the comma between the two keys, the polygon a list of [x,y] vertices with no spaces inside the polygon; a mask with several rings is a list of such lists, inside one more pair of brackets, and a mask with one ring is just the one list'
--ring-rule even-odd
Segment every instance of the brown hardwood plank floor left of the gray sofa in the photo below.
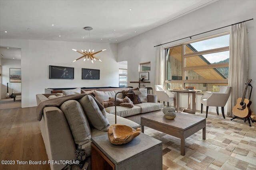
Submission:
{"label": "brown hardwood plank floor left of the gray sofa", "polygon": [[36,120],[36,107],[0,110],[0,160],[15,160],[14,165],[0,164],[0,170],[50,170],[46,165],[18,165],[20,161],[48,160]]}

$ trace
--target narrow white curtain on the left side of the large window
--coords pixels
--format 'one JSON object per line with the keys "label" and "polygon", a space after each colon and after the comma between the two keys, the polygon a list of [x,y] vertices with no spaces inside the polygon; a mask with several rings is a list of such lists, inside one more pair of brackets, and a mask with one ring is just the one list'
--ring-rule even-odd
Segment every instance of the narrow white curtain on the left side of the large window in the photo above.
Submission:
{"label": "narrow white curtain on the left side of the large window", "polygon": [[164,85],[164,55],[162,45],[156,47],[156,85]]}

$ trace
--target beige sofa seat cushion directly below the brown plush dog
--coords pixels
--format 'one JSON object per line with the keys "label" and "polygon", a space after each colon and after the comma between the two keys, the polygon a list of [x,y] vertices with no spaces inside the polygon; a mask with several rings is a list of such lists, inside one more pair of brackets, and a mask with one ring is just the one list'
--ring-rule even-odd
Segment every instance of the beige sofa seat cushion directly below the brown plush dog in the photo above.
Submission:
{"label": "beige sofa seat cushion directly below the brown plush dog", "polygon": [[[115,106],[107,107],[105,108],[106,112],[110,114],[115,114]],[[136,115],[141,113],[141,108],[138,106],[134,106],[132,108],[130,107],[124,107],[124,106],[116,106],[116,112],[118,116],[126,117],[130,115]]]}

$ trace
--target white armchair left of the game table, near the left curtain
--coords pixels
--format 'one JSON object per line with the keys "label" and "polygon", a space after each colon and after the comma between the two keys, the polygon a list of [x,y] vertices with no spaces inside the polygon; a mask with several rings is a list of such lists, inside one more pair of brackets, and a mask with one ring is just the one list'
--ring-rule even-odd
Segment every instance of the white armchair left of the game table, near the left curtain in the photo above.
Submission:
{"label": "white armchair left of the game table, near the left curtain", "polygon": [[164,90],[162,85],[155,85],[155,95],[158,98],[158,102],[162,101],[163,104],[165,104],[165,102],[167,102],[167,106],[169,106],[169,102],[174,101],[173,92]]}

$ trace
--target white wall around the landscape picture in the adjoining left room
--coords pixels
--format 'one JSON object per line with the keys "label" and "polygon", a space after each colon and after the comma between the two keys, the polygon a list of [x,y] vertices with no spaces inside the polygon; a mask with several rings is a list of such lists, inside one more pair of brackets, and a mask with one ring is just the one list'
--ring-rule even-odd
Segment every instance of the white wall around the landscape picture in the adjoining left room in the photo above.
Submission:
{"label": "white wall around the landscape picture in the adjoining left room", "polygon": [[21,92],[21,83],[10,83],[10,68],[21,68],[20,60],[2,59],[2,99],[5,98],[7,83],[9,83],[8,90],[10,94],[12,94],[12,89],[14,90],[14,93]]}

